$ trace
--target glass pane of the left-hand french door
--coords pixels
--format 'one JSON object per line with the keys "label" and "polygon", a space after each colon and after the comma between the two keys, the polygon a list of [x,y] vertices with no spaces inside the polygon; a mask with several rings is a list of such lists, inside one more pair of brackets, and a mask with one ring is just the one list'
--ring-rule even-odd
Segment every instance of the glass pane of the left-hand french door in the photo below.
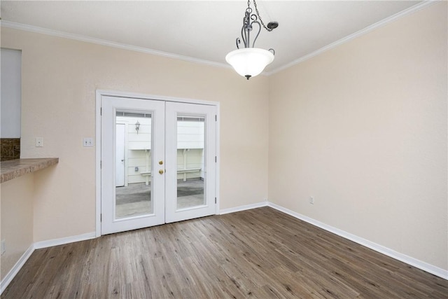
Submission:
{"label": "glass pane of the left-hand french door", "polygon": [[116,113],[115,218],[153,214],[151,113]]}

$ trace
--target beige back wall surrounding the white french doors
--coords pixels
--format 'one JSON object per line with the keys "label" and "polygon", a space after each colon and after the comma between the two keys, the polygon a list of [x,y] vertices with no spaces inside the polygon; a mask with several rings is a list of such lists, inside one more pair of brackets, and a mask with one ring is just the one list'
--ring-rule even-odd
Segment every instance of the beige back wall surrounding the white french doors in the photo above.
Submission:
{"label": "beige back wall surrounding the white french doors", "polygon": [[4,27],[1,46],[22,50],[22,158],[59,157],[36,176],[34,242],[95,230],[97,89],[220,102],[221,209],[266,200],[267,77]]}

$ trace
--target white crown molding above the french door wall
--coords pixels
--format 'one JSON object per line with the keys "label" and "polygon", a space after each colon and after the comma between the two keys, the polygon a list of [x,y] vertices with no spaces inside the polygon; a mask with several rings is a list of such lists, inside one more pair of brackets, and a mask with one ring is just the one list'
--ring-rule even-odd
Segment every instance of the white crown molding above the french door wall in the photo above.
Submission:
{"label": "white crown molding above the french door wall", "polygon": [[73,39],[75,41],[84,41],[86,43],[96,43],[97,45],[109,46],[109,47],[119,48],[119,49],[123,49],[123,50],[131,50],[131,51],[140,52],[140,53],[158,55],[158,56],[162,56],[162,57],[174,58],[177,60],[194,62],[194,63],[198,63],[198,64],[207,64],[212,67],[231,68],[230,65],[223,64],[220,62],[212,62],[210,60],[202,60],[199,58],[177,55],[177,54],[167,53],[167,52],[163,52],[163,51],[159,51],[159,50],[152,50],[152,49],[148,49],[148,48],[144,48],[144,47],[131,46],[131,45],[127,45],[125,43],[116,43],[114,41],[106,41],[105,39],[96,39],[94,37],[83,36],[80,34],[59,32],[57,30],[47,29],[47,28],[43,28],[43,27],[36,27],[36,26],[31,26],[31,25],[25,25],[25,24],[20,24],[20,23],[16,23],[16,22],[5,21],[5,20],[0,21],[0,27],[7,27],[7,28],[19,29],[19,30],[23,30],[23,31],[27,31],[27,32],[35,32],[35,33],[39,33],[39,34],[57,36],[57,37],[62,37],[64,39]]}

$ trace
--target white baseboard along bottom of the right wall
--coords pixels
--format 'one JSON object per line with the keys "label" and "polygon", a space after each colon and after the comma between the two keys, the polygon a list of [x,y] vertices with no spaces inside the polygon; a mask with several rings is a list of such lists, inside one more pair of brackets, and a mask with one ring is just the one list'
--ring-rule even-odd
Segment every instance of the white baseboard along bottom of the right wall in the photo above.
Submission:
{"label": "white baseboard along bottom of the right wall", "polygon": [[407,256],[403,253],[394,251],[392,249],[389,249],[385,246],[376,244],[374,242],[371,242],[367,239],[363,239],[361,237],[358,237],[356,235],[352,235],[349,232],[345,232],[344,230],[339,230],[338,228],[334,228],[330,225],[327,225],[325,223],[321,223],[320,221],[316,221],[313,218],[309,218],[307,216],[304,216],[302,214],[296,213],[295,211],[291,211],[290,209],[286,209],[284,207],[279,206],[278,204],[273,204],[272,202],[267,202],[268,207],[272,207],[273,209],[282,211],[283,213],[286,213],[290,216],[293,216],[297,219],[300,219],[302,221],[305,221],[307,223],[310,223],[312,225],[317,226],[318,228],[322,228],[323,230],[328,230],[329,232],[334,233],[335,235],[338,235],[340,237],[344,237],[345,239],[349,239],[353,242],[356,242],[360,245],[366,246],[367,248],[370,248],[374,251],[377,251],[379,253],[383,253],[386,256],[390,256],[391,258],[395,258],[395,260],[400,260],[403,263],[407,263],[408,265],[412,265],[413,267],[419,268],[423,271],[429,272],[430,274],[434,274],[435,276],[441,277],[443,279],[448,280],[448,270],[444,270],[440,267],[436,267],[435,265],[430,265],[426,262],[423,262],[421,260],[417,260],[416,258],[412,258],[410,256]]}

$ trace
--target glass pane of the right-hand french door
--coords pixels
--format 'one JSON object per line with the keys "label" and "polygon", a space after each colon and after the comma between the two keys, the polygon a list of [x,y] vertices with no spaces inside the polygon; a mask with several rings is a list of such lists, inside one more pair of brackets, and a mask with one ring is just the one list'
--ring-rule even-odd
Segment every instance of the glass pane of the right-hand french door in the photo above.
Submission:
{"label": "glass pane of the right-hand french door", "polygon": [[177,209],[203,206],[204,116],[177,117]]}

